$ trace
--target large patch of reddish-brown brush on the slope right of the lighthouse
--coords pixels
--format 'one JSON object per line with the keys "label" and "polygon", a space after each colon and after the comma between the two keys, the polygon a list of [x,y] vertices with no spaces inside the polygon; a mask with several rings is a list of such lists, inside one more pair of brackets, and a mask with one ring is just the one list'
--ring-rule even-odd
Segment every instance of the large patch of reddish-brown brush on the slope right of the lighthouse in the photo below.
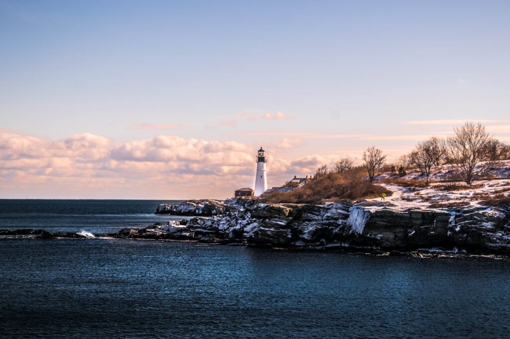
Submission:
{"label": "large patch of reddish-brown brush on the slope right of the lighthouse", "polygon": [[364,175],[362,167],[354,167],[342,174],[328,173],[288,192],[274,191],[264,194],[262,201],[271,204],[321,204],[341,199],[370,199],[381,196],[382,193],[386,193],[388,196],[393,193],[384,187],[366,181]]}

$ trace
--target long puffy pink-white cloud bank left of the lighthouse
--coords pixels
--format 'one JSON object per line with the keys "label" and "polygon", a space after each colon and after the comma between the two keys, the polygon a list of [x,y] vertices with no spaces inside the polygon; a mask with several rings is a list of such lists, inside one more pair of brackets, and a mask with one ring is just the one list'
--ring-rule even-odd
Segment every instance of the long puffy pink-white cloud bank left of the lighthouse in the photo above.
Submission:
{"label": "long puffy pink-white cloud bank left of the lighthouse", "polygon": [[237,142],[174,135],[114,143],[92,133],[52,141],[0,131],[0,188],[6,178],[22,178],[24,184],[47,183],[49,177],[77,178],[82,184],[93,178],[160,178],[164,184],[168,177],[251,176],[255,153]]}

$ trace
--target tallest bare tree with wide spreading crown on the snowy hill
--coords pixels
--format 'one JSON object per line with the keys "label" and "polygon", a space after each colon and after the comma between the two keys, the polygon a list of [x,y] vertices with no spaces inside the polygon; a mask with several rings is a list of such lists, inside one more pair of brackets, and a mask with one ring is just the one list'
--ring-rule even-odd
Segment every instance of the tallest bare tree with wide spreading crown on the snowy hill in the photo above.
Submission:
{"label": "tallest bare tree with wide spreading crown on the snowy hill", "polygon": [[479,172],[476,165],[483,160],[491,136],[483,125],[472,122],[454,128],[454,132],[454,135],[446,139],[448,160],[454,173],[471,185]]}

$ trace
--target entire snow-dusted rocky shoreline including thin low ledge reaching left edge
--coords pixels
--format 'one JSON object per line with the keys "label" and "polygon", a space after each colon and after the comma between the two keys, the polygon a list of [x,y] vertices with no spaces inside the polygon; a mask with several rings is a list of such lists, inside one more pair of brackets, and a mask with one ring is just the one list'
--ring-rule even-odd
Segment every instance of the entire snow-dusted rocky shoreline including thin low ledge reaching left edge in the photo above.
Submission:
{"label": "entire snow-dusted rocky shoreline including thin low ledge reaching left edge", "polygon": [[[189,206],[189,207],[186,207]],[[510,210],[505,208],[401,209],[391,203],[342,201],[324,205],[257,201],[190,201],[158,207],[167,214],[198,215],[182,221],[125,228],[106,235],[124,239],[365,250],[410,253],[450,251],[510,255]],[[173,211],[170,212],[170,211]],[[206,217],[206,215],[212,215]],[[0,236],[86,238],[43,230],[0,230]]]}

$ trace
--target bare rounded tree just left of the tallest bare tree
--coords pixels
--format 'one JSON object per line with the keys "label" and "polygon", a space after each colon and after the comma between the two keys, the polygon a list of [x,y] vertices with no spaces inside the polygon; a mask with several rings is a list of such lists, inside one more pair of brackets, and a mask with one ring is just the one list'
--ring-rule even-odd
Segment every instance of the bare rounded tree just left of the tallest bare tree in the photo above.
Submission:
{"label": "bare rounded tree just left of the tallest bare tree", "polygon": [[443,147],[440,139],[431,137],[419,143],[409,155],[411,164],[421,172],[421,180],[428,185],[432,166],[440,163],[443,159]]}

